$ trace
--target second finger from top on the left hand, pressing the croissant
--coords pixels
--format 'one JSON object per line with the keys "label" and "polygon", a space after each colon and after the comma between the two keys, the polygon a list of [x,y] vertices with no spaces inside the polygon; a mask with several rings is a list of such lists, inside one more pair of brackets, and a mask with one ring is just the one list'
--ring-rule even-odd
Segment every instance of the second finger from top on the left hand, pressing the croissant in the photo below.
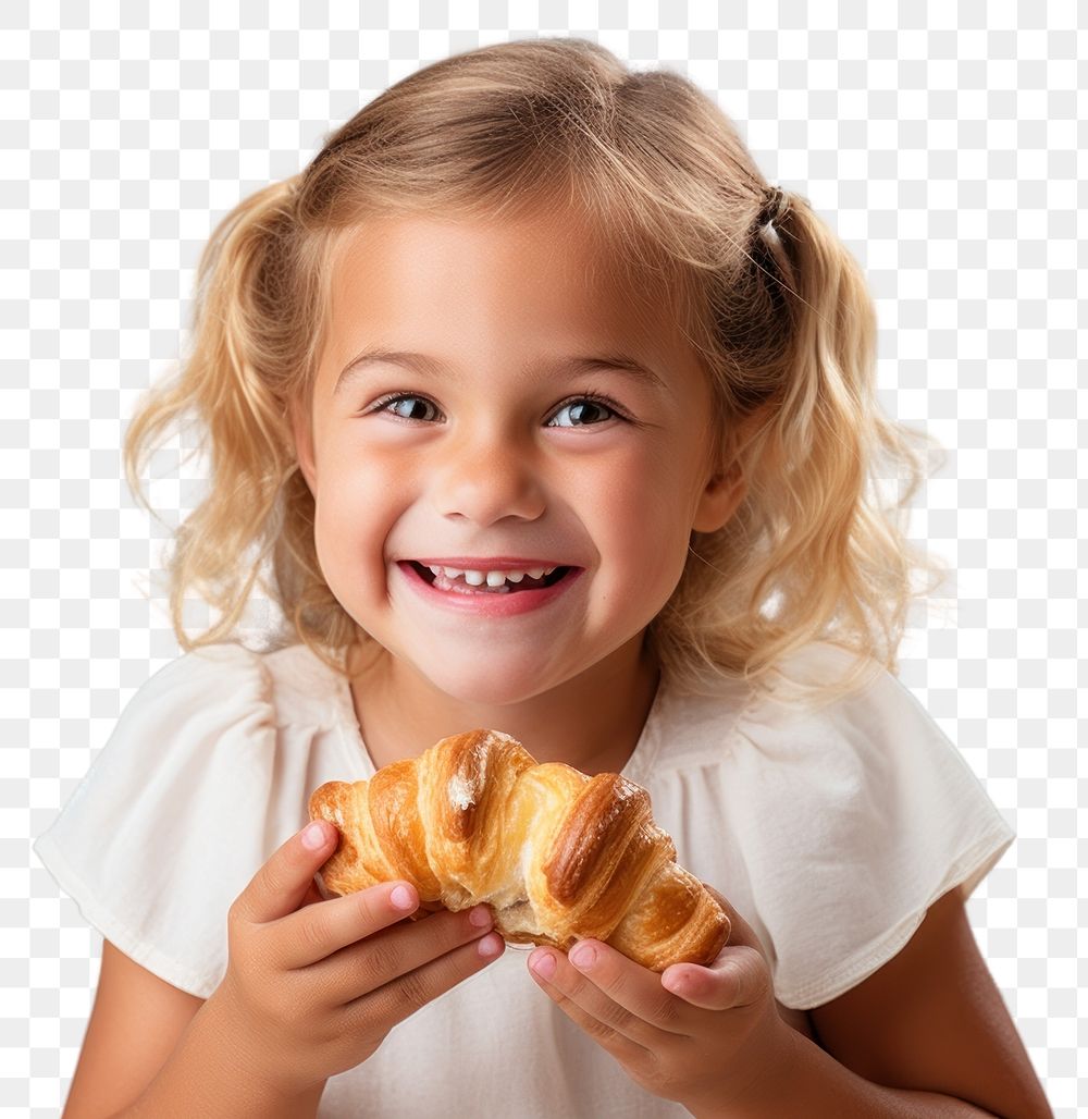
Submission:
{"label": "second finger from top on the left hand, pressing the croissant", "polygon": [[380,882],[280,918],[268,951],[278,967],[302,968],[388,929],[418,905],[419,892],[410,882]]}

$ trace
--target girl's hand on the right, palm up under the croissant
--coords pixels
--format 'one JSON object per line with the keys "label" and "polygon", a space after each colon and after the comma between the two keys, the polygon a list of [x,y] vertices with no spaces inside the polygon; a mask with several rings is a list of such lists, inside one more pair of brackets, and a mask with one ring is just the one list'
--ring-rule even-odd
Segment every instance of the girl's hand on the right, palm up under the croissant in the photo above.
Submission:
{"label": "girl's hand on the right, palm up under the croissant", "polygon": [[547,948],[529,957],[538,985],[635,1083],[696,1116],[729,1113],[757,1094],[793,1044],[758,939],[712,892],[732,928],[710,967],[657,975],[599,940],[579,941],[569,958]]}

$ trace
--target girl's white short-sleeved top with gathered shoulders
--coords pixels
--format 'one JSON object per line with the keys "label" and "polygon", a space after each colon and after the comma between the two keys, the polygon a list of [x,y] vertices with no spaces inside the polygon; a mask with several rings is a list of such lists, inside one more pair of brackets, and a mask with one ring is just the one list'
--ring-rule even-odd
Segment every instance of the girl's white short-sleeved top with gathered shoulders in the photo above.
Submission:
{"label": "girl's white short-sleeved top with gathered shoulders", "polygon": [[[829,679],[843,656],[813,643],[780,679]],[[953,887],[967,897],[1015,838],[883,669],[817,711],[739,683],[708,697],[663,684],[623,772],[650,791],[680,864],[755,930],[788,1007],[872,975],[934,901]],[[372,773],[347,683],[304,646],[208,647],[139,690],[35,850],[104,938],[206,998],[227,965],[228,906],[305,822],[310,792]],[[526,957],[508,949],[396,1026],[329,1081],[319,1113],[687,1115],[630,1081],[536,986]]]}

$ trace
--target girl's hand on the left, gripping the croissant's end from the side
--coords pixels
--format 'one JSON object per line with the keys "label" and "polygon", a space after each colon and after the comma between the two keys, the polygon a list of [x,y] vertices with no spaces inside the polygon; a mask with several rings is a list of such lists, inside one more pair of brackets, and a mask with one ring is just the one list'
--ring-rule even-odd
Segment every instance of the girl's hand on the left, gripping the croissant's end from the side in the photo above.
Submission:
{"label": "girl's hand on the left, gripping the croissant's end from the side", "polygon": [[[314,827],[314,825],[310,825]],[[404,920],[419,897],[387,882],[323,901],[314,874],[337,830],[294,835],[228,914],[229,961],[207,1008],[239,1072],[292,1097],[366,1061],[425,1003],[502,955],[486,906]],[[482,939],[481,939],[482,938]]]}

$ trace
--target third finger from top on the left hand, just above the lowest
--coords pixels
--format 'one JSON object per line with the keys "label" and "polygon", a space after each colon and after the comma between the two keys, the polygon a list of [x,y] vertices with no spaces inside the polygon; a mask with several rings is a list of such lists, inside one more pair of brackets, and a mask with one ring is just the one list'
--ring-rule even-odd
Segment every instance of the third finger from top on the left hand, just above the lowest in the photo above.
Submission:
{"label": "third finger from top on the left hand, just above the lowest", "polygon": [[[386,984],[490,934],[491,910],[477,905],[458,913],[435,913],[425,921],[400,921],[313,966],[315,977],[348,1004]],[[502,938],[499,938],[502,946]],[[488,941],[485,948],[495,947]],[[485,959],[489,958],[485,956]]]}

